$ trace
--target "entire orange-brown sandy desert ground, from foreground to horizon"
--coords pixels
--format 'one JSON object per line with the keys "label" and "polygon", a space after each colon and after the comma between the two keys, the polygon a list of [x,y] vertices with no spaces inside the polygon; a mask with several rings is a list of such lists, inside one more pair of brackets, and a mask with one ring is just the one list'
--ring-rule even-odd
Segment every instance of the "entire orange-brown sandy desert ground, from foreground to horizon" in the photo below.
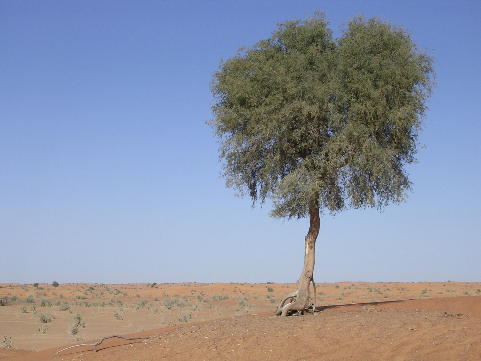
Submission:
{"label": "entire orange-brown sandy desert ground, from foreground to horizon", "polygon": [[[319,284],[317,294],[323,297],[319,309],[323,312],[290,318],[273,318],[272,310],[280,297],[295,289],[294,284],[39,285],[43,290],[31,285],[1,286],[0,297],[17,295],[20,299],[14,306],[0,307],[0,334],[8,333],[13,339],[13,348],[0,351],[0,357],[16,356],[9,357],[11,360],[40,360],[43,352],[51,358],[52,350],[25,350],[61,349],[84,339],[132,334],[142,328],[155,331],[141,334],[154,332],[158,337],[132,346],[105,348],[96,354],[77,349],[76,360],[80,356],[82,360],[103,360],[112,353],[111,360],[405,360],[405,356],[409,360],[481,360],[481,297],[476,293],[481,288],[479,283]],[[63,297],[59,298],[61,293]],[[36,298],[38,294],[42,298]],[[24,302],[30,295],[37,310],[33,318],[34,312],[29,310],[33,304]],[[77,295],[87,299],[75,298]],[[228,299],[214,300],[218,299],[215,295]],[[274,295],[275,303],[271,303],[269,295]],[[398,297],[411,300],[398,302]],[[50,300],[51,307],[39,306],[41,299]],[[167,309],[164,301],[174,299],[178,299],[176,306]],[[108,304],[111,300],[112,306]],[[122,301],[121,308],[118,300]],[[203,302],[206,300],[209,302]],[[373,300],[394,302],[361,305]],[[57,301],[66,301],[70,309],[58,310]],[[92,306],[99,301],[106,304]],[[83,306],[79,306],[80,302]],[[85,307],[85,302],[90,307]],[[144,307],[140,307],[141,303]],[[29,311],[18,312],[22,306]],[[55,312],[55,319],[46,323],[46,333],[40,334],[38,328],[45,324],[38,323],[38,315],[47,311]],[[114,319],[114,311],[121,320]],[[270,312],[261,314],[265,311]],[[68,335],[65,330],[77,312],[82,314],[86,327],[80,328],[76,336]],[[464,315],[449,316],[444,312]],[[190,314],[191,318],[184,321],[191,323],[178,320]],[[194,324],[202,321],[210,323]],[[112,345],[129,342],[111,341]],[[75,357],[74,352],[55,359]]]}

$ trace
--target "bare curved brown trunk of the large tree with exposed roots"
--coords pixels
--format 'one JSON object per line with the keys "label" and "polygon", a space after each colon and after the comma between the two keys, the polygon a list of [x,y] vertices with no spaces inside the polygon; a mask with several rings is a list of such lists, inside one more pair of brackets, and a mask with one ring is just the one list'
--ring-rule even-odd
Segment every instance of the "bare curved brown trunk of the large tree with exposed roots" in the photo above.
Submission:
{"label": "bare curved brown trunk of the large tree with exposed roots", "polygon": [[[310,291],[309,286],[313,281],[313,271],[315,252],[316,252],[316,239],[319,234],[319,226],[321,219],[319,217],[319,197],[314,197],[309,202],[309,232],[305,236],[304,240],[304,268],[297,284],[296,300],[292,303],[282,307],[283,302],[279,305],[277,311],[278,315],[287,316],[288,314],[295,313],[297,311],[304,312],[304,309],[310,307]],[[284,300],[285,301],[285,300]]]}

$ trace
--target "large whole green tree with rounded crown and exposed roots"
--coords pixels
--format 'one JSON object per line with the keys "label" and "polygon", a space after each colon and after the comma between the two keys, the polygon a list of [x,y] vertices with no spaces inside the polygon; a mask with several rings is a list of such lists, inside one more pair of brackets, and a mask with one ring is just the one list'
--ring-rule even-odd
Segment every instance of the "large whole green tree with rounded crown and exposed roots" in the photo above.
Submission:
{"label": "large whole green tree with rounded crown and exposed roots", "polygon": [[402,27],[359,16],[334,40],[323,13],[286,21],[221,62],[210,124],[227,186],[253,204],[270,198],[273,217],[310,221],[295,301],[278,314],[312,307],[323,212],[405,199],[432,64]]}

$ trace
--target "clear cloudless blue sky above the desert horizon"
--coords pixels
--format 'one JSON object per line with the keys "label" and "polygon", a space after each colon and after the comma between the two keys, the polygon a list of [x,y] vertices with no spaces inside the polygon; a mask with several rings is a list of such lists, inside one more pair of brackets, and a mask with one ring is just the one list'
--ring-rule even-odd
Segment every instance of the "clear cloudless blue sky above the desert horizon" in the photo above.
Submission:
{"label": "clear cloudless blue sky above the desert horizon", "polygon": [[1,1],[0,282],[295,282],[307,220],[219,179],[209,81],[276,24],[392,19],[436,58],[407,203],[324,216],[316,282],[481,280],[481,1]]}

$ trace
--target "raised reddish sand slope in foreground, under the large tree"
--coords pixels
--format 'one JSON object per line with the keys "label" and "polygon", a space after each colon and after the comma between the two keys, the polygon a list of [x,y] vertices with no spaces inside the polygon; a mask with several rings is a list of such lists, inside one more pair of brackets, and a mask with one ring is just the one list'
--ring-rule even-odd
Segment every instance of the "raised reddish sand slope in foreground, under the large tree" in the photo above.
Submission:
{"label": "raised reddish sand slope in foreground, under the large tree", "polygon": [[[95,354],[78,348],[53,360],[481,360],[480,296],[320,309],[316,316],[241,315],[170,327],[146,341],[117,340]],[[2,360],[52,360],[58,349]]]}

